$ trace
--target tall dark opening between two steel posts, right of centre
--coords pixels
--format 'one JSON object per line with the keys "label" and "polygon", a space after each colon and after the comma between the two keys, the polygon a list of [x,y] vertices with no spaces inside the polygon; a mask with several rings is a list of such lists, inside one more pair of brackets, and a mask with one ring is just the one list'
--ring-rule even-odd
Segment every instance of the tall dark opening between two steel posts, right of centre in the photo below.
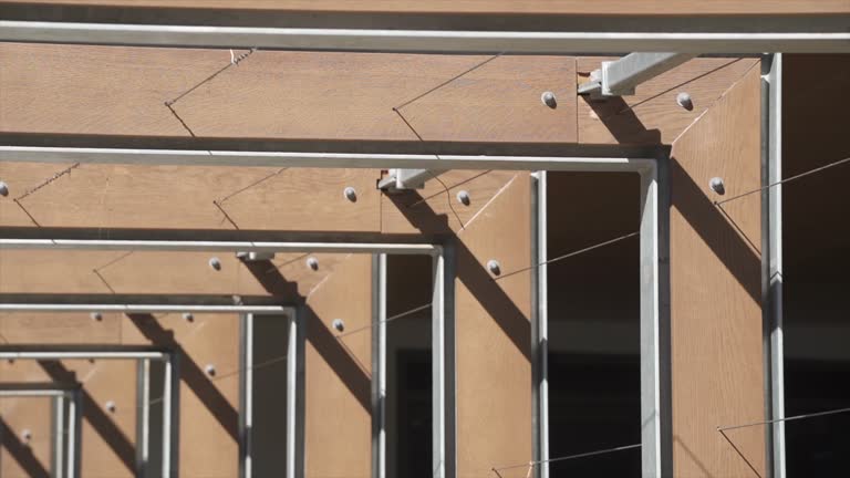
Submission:
{"label": "tall dark opening between two steel posts, right of centre", "polygon": [[[548,173],[549,258],[640,226],[636,174]],[[640,240],[548,267],[550,475],[640,477]]]}

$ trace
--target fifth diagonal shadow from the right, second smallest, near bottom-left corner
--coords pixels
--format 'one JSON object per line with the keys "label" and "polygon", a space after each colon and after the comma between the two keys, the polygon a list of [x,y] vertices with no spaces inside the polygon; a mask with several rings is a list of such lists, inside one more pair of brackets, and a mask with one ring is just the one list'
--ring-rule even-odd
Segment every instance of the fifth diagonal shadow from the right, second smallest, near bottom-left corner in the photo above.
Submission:
{"label": "fifth diagonal shadow from the right, second smallest, near bottom-left corner", "polygon": [[[75,383],[76,374],[62,365],[59,361],[39,361],[39,365],[44,372],[50,375],[54,382]],[[97,401],[85,389],[82,391],[82,409],[83,418],[85,418],[103,440],[112,448],[117,455],[121,461],[127,467],[131,472],[136,471],[136,448],[124,435],[124,433],[115,425],[104,412],[101,409]]]}

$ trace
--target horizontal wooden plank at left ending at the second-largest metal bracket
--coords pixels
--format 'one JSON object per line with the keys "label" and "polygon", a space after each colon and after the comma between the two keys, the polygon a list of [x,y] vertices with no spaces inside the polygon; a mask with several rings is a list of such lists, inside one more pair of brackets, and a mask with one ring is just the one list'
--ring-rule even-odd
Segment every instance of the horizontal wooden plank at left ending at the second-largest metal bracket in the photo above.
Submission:
{"label": "horizontal wooden plank at left ending at the second-largest metal bracket", "polygon": [[[0,225],[377,231],[377,170],[0,163]],[[73,168],[72,168],[73,167]],[[55,180],[49,181],[55,175]],[[343,195],[354,187],[357,200]],[[15,202],[15,199],[18,202]]]}

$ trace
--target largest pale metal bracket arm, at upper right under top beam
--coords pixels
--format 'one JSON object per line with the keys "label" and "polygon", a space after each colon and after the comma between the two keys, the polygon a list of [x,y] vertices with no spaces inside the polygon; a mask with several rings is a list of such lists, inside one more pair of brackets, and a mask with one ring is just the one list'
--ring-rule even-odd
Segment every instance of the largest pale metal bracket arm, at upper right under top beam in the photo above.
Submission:
{"label": "largest pale metal bracket arm, at upper right under top beam", "polygon": [[696,56],[695,53],[630,53],[620,60],[602,62],[579,86],[579,94],[599,96],[633,95],[639,84]]}

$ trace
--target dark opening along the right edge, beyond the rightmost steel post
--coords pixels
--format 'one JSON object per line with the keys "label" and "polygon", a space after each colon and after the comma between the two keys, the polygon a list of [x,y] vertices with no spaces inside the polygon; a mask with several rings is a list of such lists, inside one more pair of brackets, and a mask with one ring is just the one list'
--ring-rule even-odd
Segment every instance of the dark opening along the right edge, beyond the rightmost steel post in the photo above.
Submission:
{"label": "dark opening along the right edge, beyond the rightmost steel post", "polygon": [[[782,177],[850,157],[848,55],[784,55]],[[822,71],[817,89],[812,71]],[[850,164],[782,186],[785,414],[850,407]],[[786,470],[850,476],[850,413],[785,424]]]}

